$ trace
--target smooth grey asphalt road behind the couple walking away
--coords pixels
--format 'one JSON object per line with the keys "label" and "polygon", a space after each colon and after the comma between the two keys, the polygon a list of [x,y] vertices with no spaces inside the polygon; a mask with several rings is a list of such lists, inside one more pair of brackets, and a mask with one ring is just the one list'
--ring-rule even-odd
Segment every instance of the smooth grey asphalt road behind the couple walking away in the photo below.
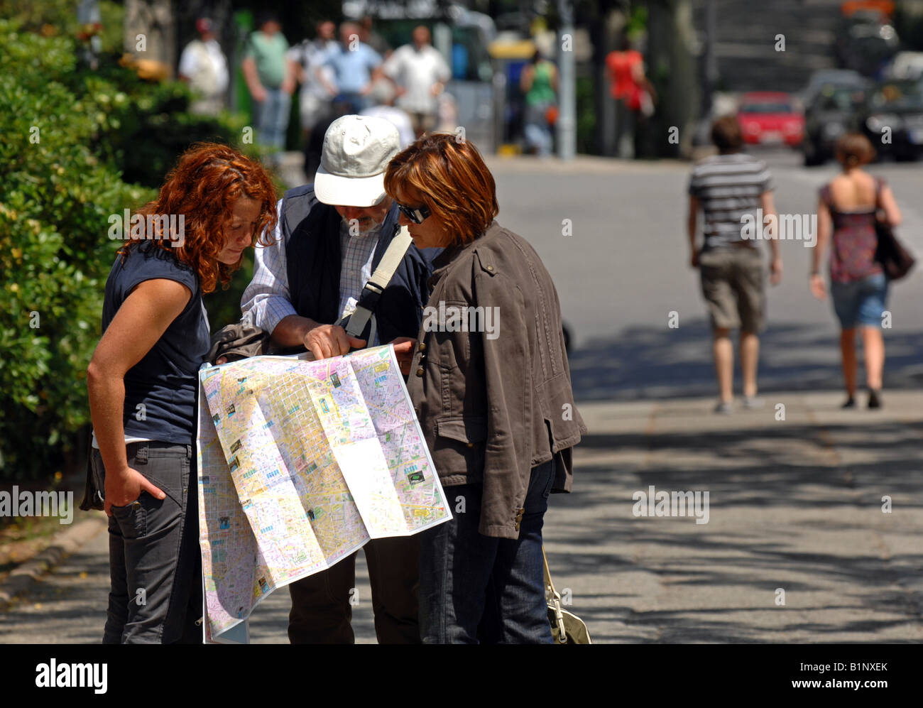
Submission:
{"label": "smooth grey asphalt road behind the couple walking away", "polygon": [[[758,153],[769,163],[780,213],[816,213],[818,189],[837,167],[804,168],[798,153]],[[637,400],[713,391],[711,341],[698,271],[686,236],[690,165],[581,158],[572,165],[492,158],[498,221],[533,243],[557,284],[580,351],[571,355],[582,400]],[[920,163],[871,165],[893,186],[899,237],[923,258]],[[569,220],[570,235],[562,234]],[[838,325],[832,304],[808,291],[810,249],[781,244],[783,282],[768,295],[761,336],[763,390],[838,390]],[[768,250],[768,249],[767,249]],[[885,333],[886,388],[920,387],[923,267],[893,284]],[[679,327],[670,329],[669,313]]]}

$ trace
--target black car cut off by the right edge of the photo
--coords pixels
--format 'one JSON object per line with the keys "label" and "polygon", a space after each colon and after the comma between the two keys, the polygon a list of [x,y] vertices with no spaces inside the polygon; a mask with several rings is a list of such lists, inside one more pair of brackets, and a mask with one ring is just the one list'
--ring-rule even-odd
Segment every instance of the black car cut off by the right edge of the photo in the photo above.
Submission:
{"label": "black car cut off by the right edge of the photo", "polygon": [[915,160],[923,153],[923,81],[882,81],[858,117],[859,129],[879,155]]}

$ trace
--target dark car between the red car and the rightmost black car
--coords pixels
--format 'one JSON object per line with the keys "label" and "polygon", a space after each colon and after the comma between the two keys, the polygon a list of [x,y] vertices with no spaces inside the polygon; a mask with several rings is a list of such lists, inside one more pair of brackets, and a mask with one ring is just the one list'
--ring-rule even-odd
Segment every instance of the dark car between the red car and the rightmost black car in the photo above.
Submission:
{"label": "dark car between the red car and the rightmost black car", "polygon": [[864,86],[828,84],[818,90],[805,110],[801,151],[806,165],[823,164],[833,158],[836,139],[855,125],[865,99]]}

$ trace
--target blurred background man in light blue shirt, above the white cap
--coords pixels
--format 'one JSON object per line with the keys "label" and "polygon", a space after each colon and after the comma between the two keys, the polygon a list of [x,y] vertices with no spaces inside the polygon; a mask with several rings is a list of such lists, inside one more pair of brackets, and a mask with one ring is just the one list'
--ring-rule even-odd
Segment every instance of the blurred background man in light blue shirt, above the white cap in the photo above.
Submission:
{"label": "blurred background man in light blue shirt, above the white cap", "polygon": [[361,113],[368,106],[372,82],[381,76],[381,55],[359,39],[359,26],[343,22],[340,45],[330,51],[326,66],[333,70],[332,81],[318,68],[315,75],[333,102],[342,103],[349,114]]}

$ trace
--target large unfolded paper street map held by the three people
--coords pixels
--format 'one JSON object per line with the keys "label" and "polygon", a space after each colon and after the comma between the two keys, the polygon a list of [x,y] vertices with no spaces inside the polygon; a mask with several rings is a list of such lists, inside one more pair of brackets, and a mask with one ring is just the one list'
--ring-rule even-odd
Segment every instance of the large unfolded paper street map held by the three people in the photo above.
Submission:
{"label": "large unfolded paper street map held by the three people", "polygon": [[370,538],[451,518],[390,345],[199,372],[207,641]]}

